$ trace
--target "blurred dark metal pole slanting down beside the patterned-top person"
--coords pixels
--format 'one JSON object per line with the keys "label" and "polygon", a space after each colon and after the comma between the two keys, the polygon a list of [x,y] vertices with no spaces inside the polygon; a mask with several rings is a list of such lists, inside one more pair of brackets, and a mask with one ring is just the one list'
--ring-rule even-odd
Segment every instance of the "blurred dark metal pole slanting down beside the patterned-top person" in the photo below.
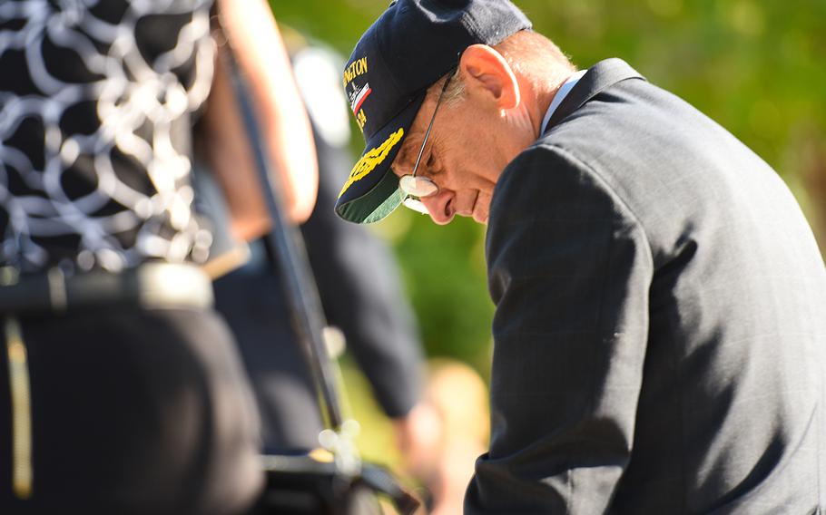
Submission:
{"label": "blurred dark metal pole slanting down beside the patterned-top person", "polygon": [[376,494],[384,494],[393,500],[400,513],[413,513],[418,509],[418,500],[385,469],[362,463],[356,452],[354,431],[351,429],[353,424],[345,421],[341,410],[337,374],[324,340],[323,331],[327,322],[307,251],[299,228],[288,221],[281,209],[280,193],[274,183],[276,170],[272,170],[263,146],[258,144],[262,141],[261,134],[247,84],[231,50],[225,55],[245,129],[253,142],[251,150],[270,213],[271,230],[264,239],[271,255],[276,257],[271,264],[284,285],[293,325],[319,392],[322,418],[330,428],[320,435],[320,440],[331,452],[329,461],[319,461],[317,457],[306,454],[263,457],[267,490],[255,512],[380,513]]}

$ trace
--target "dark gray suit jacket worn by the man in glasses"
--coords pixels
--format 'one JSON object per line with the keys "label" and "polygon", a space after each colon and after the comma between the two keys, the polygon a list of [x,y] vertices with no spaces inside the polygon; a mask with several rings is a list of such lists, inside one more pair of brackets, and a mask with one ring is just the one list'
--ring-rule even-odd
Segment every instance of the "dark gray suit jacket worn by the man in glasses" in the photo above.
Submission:
{"label": "dark gray suit jacket worn by the man in glasses", "polygon": [[826,271],[777,174],[611,59],[503,172],[468,513],[826,505]]}

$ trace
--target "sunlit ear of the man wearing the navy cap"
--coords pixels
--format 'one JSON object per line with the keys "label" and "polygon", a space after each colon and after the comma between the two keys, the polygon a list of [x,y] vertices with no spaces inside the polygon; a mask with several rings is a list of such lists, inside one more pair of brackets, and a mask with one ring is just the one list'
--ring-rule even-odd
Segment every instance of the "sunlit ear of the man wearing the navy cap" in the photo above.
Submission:
{"label": "sunlit ear of the man wearing the navy cap", "polygon": [[519,83],[501,53],[487,44],[472,44],[459,59],[459,72],[464,75],[468,90],[490,95],[499,109],[519,105]]}

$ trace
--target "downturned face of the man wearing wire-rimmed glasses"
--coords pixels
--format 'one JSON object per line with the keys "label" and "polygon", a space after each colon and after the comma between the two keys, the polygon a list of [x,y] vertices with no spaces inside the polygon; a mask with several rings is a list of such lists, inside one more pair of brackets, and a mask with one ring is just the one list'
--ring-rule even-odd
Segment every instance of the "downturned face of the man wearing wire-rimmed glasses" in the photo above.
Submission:
{"label": "downturned face of the man wearing wire-rimmed glasses", "polygon": [[[431,87],[393,161],[392,170],[398,177],[413,172],[441,89],[441,82]],[[454,215],[487,223],[497,179],[512,159],[502,155],[501,138],[497,139],[499,124],[483,107],[472,95],[443,101],[433,121],[416,175],[438,185],[438,193],[421,201],[439,225],[449,223]]]}

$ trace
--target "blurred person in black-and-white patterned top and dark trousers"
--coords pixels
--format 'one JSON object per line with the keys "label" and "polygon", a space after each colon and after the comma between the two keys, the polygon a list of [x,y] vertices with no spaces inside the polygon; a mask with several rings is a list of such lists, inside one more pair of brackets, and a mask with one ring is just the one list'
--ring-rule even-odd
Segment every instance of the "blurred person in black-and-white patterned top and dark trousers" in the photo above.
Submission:
{"label": "blurred person in black-and-white patterned top and dark trousers", "polygon": [[[268,141],[314,162],[269,5],[216,5]],[[261,489],[258,417],[192,211],[192,118],[218,102],[212,7],[0,5],[0,512],[231,514]],[[297,219],[315,199],[301,170]]]}

